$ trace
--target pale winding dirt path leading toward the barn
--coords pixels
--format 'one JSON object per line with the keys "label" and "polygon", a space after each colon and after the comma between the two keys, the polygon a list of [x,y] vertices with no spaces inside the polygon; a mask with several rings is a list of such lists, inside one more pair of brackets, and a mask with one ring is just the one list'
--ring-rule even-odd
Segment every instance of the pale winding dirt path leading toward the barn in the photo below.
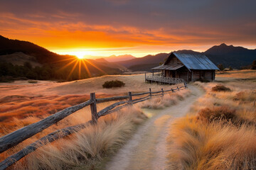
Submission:
{"label": "pale winding dirt path leading toward the barn", "polygon": [[175,118],[186,115],[191,105],[203,94],[197,86],[188,88],[193,91],[192,95],[175,106],[163,110],[144,109],[153,116],[119,149],[106,169],[166,169],[168,126]]}

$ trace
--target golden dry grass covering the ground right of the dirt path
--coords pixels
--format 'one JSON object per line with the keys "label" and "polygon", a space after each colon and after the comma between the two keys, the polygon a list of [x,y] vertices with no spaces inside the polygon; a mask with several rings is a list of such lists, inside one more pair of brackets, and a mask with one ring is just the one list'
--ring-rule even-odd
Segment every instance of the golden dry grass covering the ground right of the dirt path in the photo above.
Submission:
{"label": "golden dry grass covering the ground right of the dirt path", "polygon": [[225,82],[231,91],[196,82],[206,95],[171,125],[170,169],[256,169],[256,83],[248,82]]}

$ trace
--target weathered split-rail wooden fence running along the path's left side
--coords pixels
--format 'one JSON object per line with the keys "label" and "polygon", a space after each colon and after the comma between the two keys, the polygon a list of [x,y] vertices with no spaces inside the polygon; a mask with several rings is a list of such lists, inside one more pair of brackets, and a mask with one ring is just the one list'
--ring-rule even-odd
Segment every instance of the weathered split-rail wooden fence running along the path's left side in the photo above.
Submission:
{"label": "weathered split-rail wooden fence running along the path's left side", "polygon": [[[76,111],[82,108],[85,108],[86,106],[90,106],[90,111],[92,113],[92,120],[79,125],[74,125],[68,128],[56,130],[55,132],[52,132],[46,135],[45,137],[42,137],[40,140],[33,142],[31,145],[28,145],[27,147],[21,149],[21,151],[17,152],[16,154],[13,154],[10,157],[6,158],[3,162],[0,162],[0,169],[6,169],[12,164],[15,164],[16,162],[18,162],[18,160],[25,157],[27,154],[34,152],[36,149],[38,149],[38,147],[47,145],[50,142],[66,137],[70,134],[73,134],[74,132],[78,132],[79,130],[86,128],[88,125],[97,123],[97,119],[104,115],[108,115],[110,113],[118,111],[121,108],[124,108],[126,106],[132,106],[134,103],[146,101],[153,96],[164,96],[164,92],[170,92],[170,91],[175,92],[175,91],[184,89],[186,87],[187,87],[186,84],[184,84],[184,86],[181,86],[181,87],[177,86],[176,89],[169,89],[166,91],[164,91],[164,89],[161,89],[161,91],[156,91],[156,92],[152,92],[151,89],[149,88],[148,92],[144,92],[140,94],[132,94],[132,92],[128,92],[127,96],[114,96],[110,98],[96,98],[95,93],[91,93],[90,100],[85,101],[84,103],[80,103],[76,106],[65,108],[63,111],[59,111],[58,113],[50,115],[47,118],[44,118],[43,120],[38,121],[37,123],[27,125],[26,127],[23,127],[19,130],[16,130],[14,132],[9,133],[8,135],[1,137],[0,153],[5,152],[7,149],[10,149],[11,147],[18,145],[19,143],[23,142],[29,137],[36,135],[38,132],[45,130],[50,125],[58,123],[60,120],[63,120],[63,118],[66,118],[68,115],[71,115],[72,113],[75,113]],[[133,96],[144,96],[144,97],[132,99]],[[122,101],[124,99],[127,99],[127,100]],[[107,101],[118,101],[118,102],[113,103],[110,106],[107,106],[106,108],[97,112],[97,103],[104,103]]]}

